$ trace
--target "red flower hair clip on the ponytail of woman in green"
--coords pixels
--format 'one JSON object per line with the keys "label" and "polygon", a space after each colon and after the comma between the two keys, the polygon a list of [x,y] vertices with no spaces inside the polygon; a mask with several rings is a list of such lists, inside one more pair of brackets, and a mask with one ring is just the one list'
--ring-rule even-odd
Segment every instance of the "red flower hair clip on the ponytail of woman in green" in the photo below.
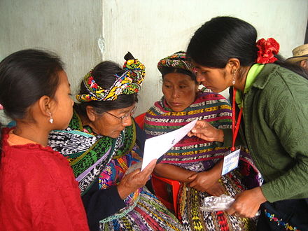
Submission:
{"label": "red flower hair clip on the ponytail of woman in green", "polygon": [[278,54],[280,45],[274,38],[261,38],[257,41],[258,57],[256,62],[258,64],[270,64],[277,60],[274,55]]}

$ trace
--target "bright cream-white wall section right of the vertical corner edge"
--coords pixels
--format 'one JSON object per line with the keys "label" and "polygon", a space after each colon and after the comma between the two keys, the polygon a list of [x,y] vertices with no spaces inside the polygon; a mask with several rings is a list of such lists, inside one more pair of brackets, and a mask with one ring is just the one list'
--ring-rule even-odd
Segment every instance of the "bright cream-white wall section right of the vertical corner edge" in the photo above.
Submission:
{"label": "bright cream-white wall section right of the vertical corner edge", "polygon": [[[158,61],[186,50],[197,28],[216,16],[229,15],[255,26],[260,38],[274,37],[281,55],[304,42],[307,0],[103,0],[104,58],[123,62],[130,50],[146,65],[139,111],[162,96]],[[225,94],[226,95],[226,94]]]}

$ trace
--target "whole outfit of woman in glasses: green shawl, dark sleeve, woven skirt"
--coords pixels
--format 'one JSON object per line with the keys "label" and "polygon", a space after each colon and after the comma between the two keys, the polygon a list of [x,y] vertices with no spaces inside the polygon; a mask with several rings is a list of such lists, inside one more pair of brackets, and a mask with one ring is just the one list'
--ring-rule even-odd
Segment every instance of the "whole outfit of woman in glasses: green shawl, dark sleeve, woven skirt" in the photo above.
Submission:
{"label": "whole outfit of woman in glasses: green shawl, dark sleeve, woven skirt", "polygon": [[125,200],[118,195],[125,172],[141,160],[138,128],[133,122],[113,139],[94,134],[74,113],[69,128],[50,134],[50,146],[68,158],[79,182],[90,230],[182,230],[145,187]]}

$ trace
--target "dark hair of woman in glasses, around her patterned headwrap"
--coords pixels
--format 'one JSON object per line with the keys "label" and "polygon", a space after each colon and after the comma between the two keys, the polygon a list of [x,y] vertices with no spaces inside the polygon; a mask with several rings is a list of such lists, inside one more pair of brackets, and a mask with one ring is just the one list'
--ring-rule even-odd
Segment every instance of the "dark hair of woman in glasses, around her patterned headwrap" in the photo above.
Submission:
{"label": "dark hair of woman in glasses, around her patterned headwrap", "polygon": [[[94,67],[92,71],[92,77],[95,83],[104,89],[109,89],[113,83],[116,82],[117,77],[121,76],[125,71],[115,62],[104,61]],[[83,80],[80,83],[80,91],[78,94],[88,94],[87,88],[85,87]],[[74,109],[78,114],[87,118],[87,106],[92,106],[94,111],[98,114],[102,114],[105,111],[111,111],[115,109],[124,109],[128,106],[132,106],[138,102],[137,93],[134,94],[120,94],[116,100],[111,101],[90,101],[80,102],[74,105]]]}

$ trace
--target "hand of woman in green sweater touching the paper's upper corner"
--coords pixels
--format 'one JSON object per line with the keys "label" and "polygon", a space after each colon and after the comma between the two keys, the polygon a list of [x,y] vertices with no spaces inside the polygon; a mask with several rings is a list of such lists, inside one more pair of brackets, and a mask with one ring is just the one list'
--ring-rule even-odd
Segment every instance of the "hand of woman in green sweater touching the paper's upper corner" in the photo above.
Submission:
{"label": "hand of woman in green sweater touching the paper's upper corner", "polygon": [[220,141],[223,142],[223,130],[213,127],[204,120],[198,120],[195,127],[188,132],[188,137],[199,137],[206,141]]}

